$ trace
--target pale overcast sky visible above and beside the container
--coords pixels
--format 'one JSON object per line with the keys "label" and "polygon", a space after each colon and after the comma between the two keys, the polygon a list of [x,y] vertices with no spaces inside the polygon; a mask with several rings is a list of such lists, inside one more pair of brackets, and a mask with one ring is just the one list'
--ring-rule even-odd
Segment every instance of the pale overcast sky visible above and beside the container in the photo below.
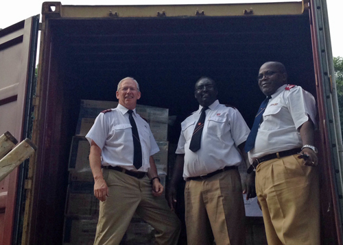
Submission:
{"label": "pale overcast sky visible above and beside the container", "polygon": [[[206,3],[262,3],[287,0],[61,0],[62,5],[153,5],[153,4],[206,4]],[[8,1],[0,3],[0,28],[4,29],[25,18],[40,14],[41,0]],[[331,47],[334,57],[343,57],[342,10],[343,0],[327,0]]]}

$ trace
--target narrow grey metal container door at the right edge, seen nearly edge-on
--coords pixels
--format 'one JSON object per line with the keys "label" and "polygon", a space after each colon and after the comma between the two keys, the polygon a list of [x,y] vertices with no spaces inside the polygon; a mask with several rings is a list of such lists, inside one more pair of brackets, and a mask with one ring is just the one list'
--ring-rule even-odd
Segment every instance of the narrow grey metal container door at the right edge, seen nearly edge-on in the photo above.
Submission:
{"label": "narrow grey metal container door at the right edge, seen nearly edge-on", "polygon": [[318,137],[322,140],[322,244],[342,244],[342,136],[327,3],[325,0],[311,0],[309,8],[320,126]]}

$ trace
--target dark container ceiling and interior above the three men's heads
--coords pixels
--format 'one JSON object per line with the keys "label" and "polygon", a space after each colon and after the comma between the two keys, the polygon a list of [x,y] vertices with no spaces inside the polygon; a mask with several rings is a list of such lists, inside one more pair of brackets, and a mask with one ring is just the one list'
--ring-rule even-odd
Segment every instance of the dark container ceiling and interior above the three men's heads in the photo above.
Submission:
{"label": "dark container ceiling and interior above the three men's heads", "polygon": [[285,64],[289,83],[315,93],[309,16],[49,19],[67,79],[80,99],[114,100],[123,77],[139,81],[139,103],[169,108],[183,120],[198,103],[194,83],[217,81],[221,103],[239,109],[248,125],[263,94],[259,67]]}

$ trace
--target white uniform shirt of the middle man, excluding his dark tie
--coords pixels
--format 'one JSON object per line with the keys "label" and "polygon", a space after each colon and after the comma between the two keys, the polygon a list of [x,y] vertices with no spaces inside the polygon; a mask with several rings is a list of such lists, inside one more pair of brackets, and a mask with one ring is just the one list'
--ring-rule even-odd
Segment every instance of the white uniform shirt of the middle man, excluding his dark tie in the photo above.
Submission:
{"label": "white uniform shirt of the middle man, excluding his dark tie", "polygon": [[246,141],[250,132],[237,109],[215,101],[206,110],[201,148],[193,153],[189,144],[201,109],[200,105],[198,111],[181,123],[176,154],[185,154],[184,178],[206,175],[225,166],[238,166],[242,158],[237,146]]}

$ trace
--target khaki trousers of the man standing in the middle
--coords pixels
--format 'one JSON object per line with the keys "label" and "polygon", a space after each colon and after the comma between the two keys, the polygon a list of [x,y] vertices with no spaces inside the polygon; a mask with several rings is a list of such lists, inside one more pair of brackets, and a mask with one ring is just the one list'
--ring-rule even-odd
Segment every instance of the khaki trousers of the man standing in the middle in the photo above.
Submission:
{"label": "khaki trousers of the man standing in the middle", "polygon": [[185,187],[188,245],[245,244],[245,210],[238,170],[226,170]]}

